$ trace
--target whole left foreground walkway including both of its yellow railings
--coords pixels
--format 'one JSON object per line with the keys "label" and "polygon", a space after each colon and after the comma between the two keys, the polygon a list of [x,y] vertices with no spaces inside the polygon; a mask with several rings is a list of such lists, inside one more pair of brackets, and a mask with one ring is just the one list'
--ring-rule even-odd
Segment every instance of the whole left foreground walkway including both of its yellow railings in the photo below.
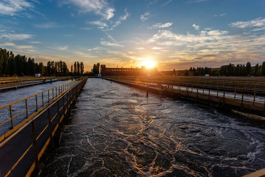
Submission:
{"label": "whole left foreground walkway including both of its yellow railings", "polygon": [[0,177],[30,176],[67,117],[87,78],[0,107]]}

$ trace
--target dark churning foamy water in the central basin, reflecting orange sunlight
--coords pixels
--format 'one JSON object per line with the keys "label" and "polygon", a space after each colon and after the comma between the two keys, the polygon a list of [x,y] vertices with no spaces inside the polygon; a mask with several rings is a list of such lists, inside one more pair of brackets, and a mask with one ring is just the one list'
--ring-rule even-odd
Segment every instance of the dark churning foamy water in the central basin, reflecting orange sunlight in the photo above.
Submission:
{"label": "dark churning foamy water in the central basin, reflecting orange sunlight", "polygon": [[262,168],[264,126],[89,79],[39,176],[235,177]]}

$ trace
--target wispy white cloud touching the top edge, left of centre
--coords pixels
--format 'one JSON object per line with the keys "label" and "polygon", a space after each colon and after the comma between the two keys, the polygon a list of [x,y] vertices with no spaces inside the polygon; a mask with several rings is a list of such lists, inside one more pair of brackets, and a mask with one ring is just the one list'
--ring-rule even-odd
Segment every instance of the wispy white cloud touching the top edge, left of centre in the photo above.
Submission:
{"label": "wispy white cloud touching the top edge, left of centre", "polygon": [[114,16],[115,9],[106,0],[66,0],[63,4],[74,4],[79,8],[79,13],[93,12],[109,20]]}

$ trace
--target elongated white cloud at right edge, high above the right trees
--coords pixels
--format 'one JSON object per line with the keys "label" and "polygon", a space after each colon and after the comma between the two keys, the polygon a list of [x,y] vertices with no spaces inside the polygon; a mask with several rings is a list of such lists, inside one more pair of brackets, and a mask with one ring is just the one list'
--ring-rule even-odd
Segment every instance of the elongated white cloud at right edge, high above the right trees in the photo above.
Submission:
{"label": "elongated white cloud at right edge, high above the right trees", "polygon": [[265,26],[265,19],[262,18],[256,18],[254,20],[250,21],[238,21],[238,22],[233,22],[229,24],[230,27],[236,27],[236,28],[252,28],[252,27],[264,27]]}

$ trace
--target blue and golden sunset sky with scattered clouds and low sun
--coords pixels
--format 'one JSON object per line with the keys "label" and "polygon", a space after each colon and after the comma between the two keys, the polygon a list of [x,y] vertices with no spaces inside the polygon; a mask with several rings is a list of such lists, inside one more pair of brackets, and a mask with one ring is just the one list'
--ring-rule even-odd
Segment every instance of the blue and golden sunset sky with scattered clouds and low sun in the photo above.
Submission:
{"label": "blue and golden sunset sky with scattered clouds and low sun", "polygon": [[0,0],[0,47],[161,70],[265,61],[265,0]]}

